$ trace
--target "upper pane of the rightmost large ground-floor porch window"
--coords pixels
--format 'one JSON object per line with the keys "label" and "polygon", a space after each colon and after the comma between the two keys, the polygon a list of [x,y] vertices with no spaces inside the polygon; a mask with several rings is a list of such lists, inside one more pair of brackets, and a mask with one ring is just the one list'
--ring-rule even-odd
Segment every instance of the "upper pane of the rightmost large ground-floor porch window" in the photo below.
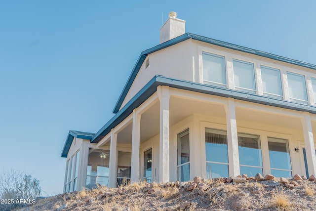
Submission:
{"label": "upper pane of the rightmost large ground-floor porch window", "polygon": [[270,167],[291,170],[290,152],[286,139],[268,137]]}

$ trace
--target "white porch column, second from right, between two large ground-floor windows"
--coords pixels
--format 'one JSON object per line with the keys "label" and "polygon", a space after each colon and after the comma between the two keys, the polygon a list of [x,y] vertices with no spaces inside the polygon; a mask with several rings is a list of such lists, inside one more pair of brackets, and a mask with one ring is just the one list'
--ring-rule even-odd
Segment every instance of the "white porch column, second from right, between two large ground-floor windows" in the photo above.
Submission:
{"label": "white porch column, second from right, between two large ground-floor windows", "polygon": [[228,103],[225,105],[225,111],[227,125],[229,175],[237,176],[240,174],[240,172],[235,101],[233,98],[228,98]]}

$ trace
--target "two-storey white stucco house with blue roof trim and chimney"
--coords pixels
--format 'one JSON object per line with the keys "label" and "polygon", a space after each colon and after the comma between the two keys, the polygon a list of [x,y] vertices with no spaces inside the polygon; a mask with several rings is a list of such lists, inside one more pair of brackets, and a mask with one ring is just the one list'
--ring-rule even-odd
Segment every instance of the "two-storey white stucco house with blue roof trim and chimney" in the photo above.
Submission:
{"label": "two-storey white stucco house with blue roof trim and chimney", "polygon": [[96,133],[69,131],[65,192],[124,179],[316,173],[316,65],[185,33],[175,12],[113,112]]}

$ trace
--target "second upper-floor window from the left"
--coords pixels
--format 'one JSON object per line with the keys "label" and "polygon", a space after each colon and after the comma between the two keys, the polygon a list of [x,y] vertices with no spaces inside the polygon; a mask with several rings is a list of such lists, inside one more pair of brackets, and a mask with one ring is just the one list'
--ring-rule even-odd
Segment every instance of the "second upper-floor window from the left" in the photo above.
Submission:
{"label": "second upper-floor window from the left", "polygon": [[240,60],[233,60],[235,89],[255,93],[255,75],[253,64]]}

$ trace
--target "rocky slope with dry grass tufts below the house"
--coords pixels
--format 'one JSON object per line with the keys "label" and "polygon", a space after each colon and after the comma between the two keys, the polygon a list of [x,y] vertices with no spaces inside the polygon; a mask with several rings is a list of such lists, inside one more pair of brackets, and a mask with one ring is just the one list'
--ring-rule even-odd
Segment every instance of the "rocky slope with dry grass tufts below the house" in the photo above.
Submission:
{"label": "rocky slope with dry grass tufts below the house", "polygon": [[316,210],[316,177],[201,179],[190,182],[132,183],[64,193],[22,211],[305,211]]}

